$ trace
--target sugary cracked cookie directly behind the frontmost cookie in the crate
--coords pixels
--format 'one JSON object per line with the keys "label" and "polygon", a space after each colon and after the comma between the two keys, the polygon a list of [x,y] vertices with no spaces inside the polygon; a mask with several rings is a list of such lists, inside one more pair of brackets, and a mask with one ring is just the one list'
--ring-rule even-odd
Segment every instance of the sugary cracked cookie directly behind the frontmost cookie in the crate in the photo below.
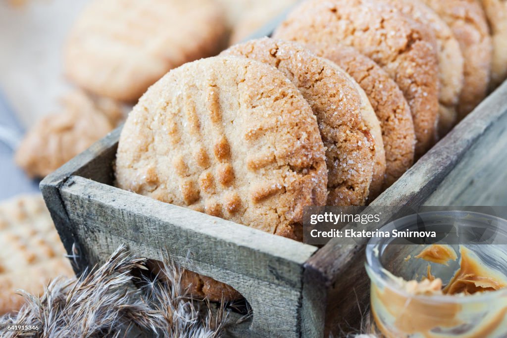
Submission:
{"label": "sugary cracked cookie directly behind the frontmost cookie in the crate", "polygon": [[328,205],[365,205],[369,191],[372,198],[380,193],[385,173],[380,124],[368,98],[360,95],[363,90],[342,69],[299,44],[268,37],[222,55],[278,68],[310,103],[327,148]]}

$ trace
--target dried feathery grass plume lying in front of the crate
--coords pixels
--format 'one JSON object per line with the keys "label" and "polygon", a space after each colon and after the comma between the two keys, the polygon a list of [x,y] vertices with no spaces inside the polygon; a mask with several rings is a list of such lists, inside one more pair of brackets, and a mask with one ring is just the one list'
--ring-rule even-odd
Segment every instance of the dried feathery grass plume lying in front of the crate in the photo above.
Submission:
{"label": "dried feathery grass plume lying in front of the crate", "polygon": [[21,292],[25,305],[18,313],[1,317],[0,323],[38,325],[39,331],[0,331],[0,336],[215,338],[221,335],[226,319],[224,311],[213,315],[209,304],[192,299],[179,284],[182,271],[169,260],[162,264],[165,278],[135,278],[134,269],[146,270],[146,260],[133,258],[120,247],[103,266],[85,272],[80,278],[53,280],[41,297]]}

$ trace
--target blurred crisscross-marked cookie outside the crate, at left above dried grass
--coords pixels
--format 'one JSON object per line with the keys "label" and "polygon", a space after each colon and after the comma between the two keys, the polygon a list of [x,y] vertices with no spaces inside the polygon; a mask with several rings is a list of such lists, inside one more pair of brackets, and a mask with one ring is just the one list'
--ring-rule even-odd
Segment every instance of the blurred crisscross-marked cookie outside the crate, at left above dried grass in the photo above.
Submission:
{"label": "blurred crisscross-marked cookie outside the crate, at left above dried grass", "polygon": [[18,289],[38,295],[52,278],[74,276],[40,195],[0,204],[0,247],[0,315],[21,308]]}

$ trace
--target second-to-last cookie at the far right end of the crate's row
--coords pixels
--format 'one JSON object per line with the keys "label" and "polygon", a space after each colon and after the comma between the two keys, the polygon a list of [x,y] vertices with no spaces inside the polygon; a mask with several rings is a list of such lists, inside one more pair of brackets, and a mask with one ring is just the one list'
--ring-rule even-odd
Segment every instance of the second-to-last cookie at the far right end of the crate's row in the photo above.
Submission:
{"label": "second-to-last cookie at the far right end of the crate's row", "polygon": [[458,119],[464,118],[486,97],[492,45],[481,5],[463,0],[423,0],[451,27],[464,57],[464,84]]}

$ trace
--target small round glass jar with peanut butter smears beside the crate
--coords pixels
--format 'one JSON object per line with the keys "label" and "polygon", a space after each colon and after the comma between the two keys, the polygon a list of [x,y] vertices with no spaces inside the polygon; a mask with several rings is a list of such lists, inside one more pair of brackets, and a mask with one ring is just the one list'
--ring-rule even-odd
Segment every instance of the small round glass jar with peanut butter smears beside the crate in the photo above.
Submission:
{"label": "small round glass jar with peanut butter smears beside the crate", "polygon": [[[436,243],[451,247],[458,259],[445,265],[414,258],[433,243],[412,244],[394,237],[371,239],[366,270],[371,279],[371,314],[376,329],[388,338],[507,337],[506,288],[448,295],[413,292],[415,282],[407,283],[421,281],[428,274],[440,278],[443,285],[449,283],[460,269],[464,249],[475,257],[478,266],[507,281],[507,221],[474,212],[439,211],[403,217],[380,231],[420,230],[421,224],[427,231],[442,233],[445,229],[450,233]],[[474,237],[470,236],[473,233],[486,235],[481,239],[485,241],[465,240],[467,234]]]}

